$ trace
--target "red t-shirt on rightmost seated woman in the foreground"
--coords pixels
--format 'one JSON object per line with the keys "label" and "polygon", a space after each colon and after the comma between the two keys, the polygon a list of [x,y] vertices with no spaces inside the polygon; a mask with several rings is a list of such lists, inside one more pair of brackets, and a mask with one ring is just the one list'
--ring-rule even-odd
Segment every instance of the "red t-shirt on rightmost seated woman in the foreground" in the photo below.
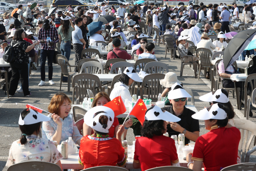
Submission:
{"label": "red t-shirt on rightmost seated woman in the foreground", "polygon": [[221,167],[235,165],[240,138],[236,127],[212,126],[210,132],[197,138],[192,160],[203,161],[205,171],[220,171]]}

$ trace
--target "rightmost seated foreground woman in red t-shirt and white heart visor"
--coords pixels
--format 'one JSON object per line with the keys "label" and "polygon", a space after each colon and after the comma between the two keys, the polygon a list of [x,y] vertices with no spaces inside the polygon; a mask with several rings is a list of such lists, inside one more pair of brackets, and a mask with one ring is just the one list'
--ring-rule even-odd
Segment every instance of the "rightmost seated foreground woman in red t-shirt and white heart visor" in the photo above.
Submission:
{"label": "rightmost seated foreground woman in red t-shirt and white heart visor", "polygon": [[241,134],[236,127],[225,127],[228,124],[227,111],[228,108],[217,103],[192,115],[196,120],[204,120],[205,129],[210,131],[198,137],[193,154],[187,155],[188,167],[193,171],[201,171],[203,163],[205,171],[217,171],[237,164]]}

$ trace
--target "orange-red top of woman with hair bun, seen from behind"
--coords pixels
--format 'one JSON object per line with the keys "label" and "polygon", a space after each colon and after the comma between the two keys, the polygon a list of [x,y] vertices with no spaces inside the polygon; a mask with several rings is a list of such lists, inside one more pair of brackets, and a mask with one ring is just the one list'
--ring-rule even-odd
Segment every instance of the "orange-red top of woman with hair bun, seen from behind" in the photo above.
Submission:
{"label": "orange-red top of woman with hair bun, seen from behind", "polygon": [[[96,135],[96,134],[94,134]],[[116,138],[84,136],[80,141],[79,157],[84,169],[96,166],[122,166],[126,163],[124,148]]]}

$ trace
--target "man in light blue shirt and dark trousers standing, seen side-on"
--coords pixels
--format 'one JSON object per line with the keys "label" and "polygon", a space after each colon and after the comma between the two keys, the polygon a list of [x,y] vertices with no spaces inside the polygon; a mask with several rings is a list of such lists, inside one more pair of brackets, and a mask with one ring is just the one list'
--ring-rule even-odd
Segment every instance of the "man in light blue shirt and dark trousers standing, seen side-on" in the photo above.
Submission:
{"label": "man in light blue shirt and dark trousers standing, seen side-on", "polygon": [[[74,44],[75,51],[75,65],[78,65],[78,62],[82,59],[82,50],[85,49],[86,42],[84,41],[82,30],[79,28],[83,24],[83,19],[77,17],[75,19],[75,31],[72,31],[72,41]],[[75,72],[78,72],[77,67],[75,67]]]}

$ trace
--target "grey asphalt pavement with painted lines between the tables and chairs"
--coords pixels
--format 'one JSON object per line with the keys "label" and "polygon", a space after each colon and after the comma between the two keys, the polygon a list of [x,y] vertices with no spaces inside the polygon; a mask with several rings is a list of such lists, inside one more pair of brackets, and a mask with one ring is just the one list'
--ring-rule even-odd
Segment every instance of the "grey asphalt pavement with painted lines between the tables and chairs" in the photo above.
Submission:
{"label": "grey asphalt pavement with painted lines between the tables and chairs", "polygon": [[[149,39],[151,42],[152,39]],[[199,97],[210,92],[210,81],[204,79],[204,77],[200,77],[200,80],[194,78],[194,71],[192,67],[190,68],[189,65],[186,65],[183,70],[183,76],[180,77],[180,66],[181,60],[180,59],[170,59],[171,55],[170,52],[167,52],[167,56],[165,59],[165,45],[158,46],[156,45],[154,51],[157,57],[157,60],[160,62],[164,62],[168,65],[169,72],[176,73],[178,80],[180,80],[185,87],[192,89],[194,94],[194,101],[197,110],[202,110],[204,107],[208,106],[208,102],[202,102],[199,100]],[[71,51],[70,56],[70,64],[74,65],[74,51]],[[72,68],[73,69],[73,68]],[[72,70],[73,71],[73,70]],[[6,161],[9,155],[9,149],[12,142],[18,140],[20,138],[21,132],[18,128],[18,119],[20,112],[22,109],[25,108],[27,103],[42,108],[43,110],[47,110],[48,104],[52,96],[59,92],[60,90],[60,76],[61,76],[61,68],[59,65],[53,65],[53,81],[55,85],[49,85],[48,83],[48,67],[46,67],[46,85],[45,86],[38,86],[40,83],[40,67],[38,67],[37,71],[32,71],[30,75],[30,86],[29,89],[31,90],[32,96],[24,97],[23,93],[16,92],[13,97],[7,98],[4,94],[4,91],[0,90],[0,170],[6,171],[7,168],[5,167]],[[61,92],[66,93],[70,99],[72,100],[72,90],[68,93],[67,92],[67,83],[62,83],[62,90]],[[235,119],[246,119],[244,118],[244,110],[237,110],[236,106],[236,96],[232,98],[232,93],[229,93],[230,102],[232,103],[236,116]],[[190,104],[190,100],[188,100],[188,104]],[[256,122],[256,108],[252,108],[253,116],[249,118],[250,121]],[[44,113],[48,115],[47,113]],[[208,131],[204,128],[204,121],[200,120],[200,135],[206,134]],[[249,134],[250,135],[250,134]],[[128,134],[126,139],[128,140],[128,144],[132,145],[132,141],[135,140],[133,132],[131,129],[128,129]],[[230,140],[232,141],[232,140]],[[253,141],[254,142],[254,141]],[[250,145],[251,149],[253,144]],[[221,150],[221,149],[218,149]],[[250,156],[250,162],[256,162],[256,155],[253,153]]]}

